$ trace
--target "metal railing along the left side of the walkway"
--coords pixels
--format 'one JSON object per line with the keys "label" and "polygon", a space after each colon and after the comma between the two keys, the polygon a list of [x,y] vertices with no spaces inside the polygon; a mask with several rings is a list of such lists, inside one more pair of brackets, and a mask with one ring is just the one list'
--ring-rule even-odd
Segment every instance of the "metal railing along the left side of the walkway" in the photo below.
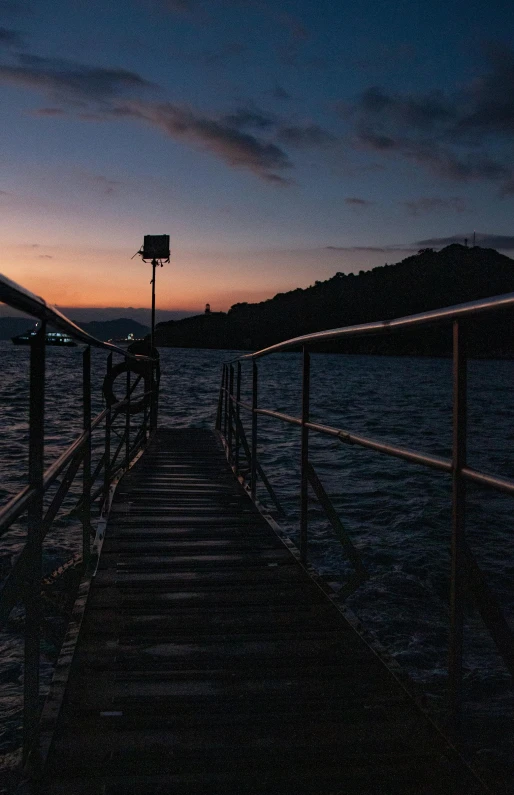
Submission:
{"label": "metal railing along the left side of the walkway", "polygon": [[[40,322],[30,339],[30,398],[29,398],[29,461],[28,484],[0,509],[0,537],[4,536],[24,515],[27,517],[25,546],[4,580],[0,591],[0,625],[4,625],[13,608],[20,602],[25,608],[25,649],[23,675],[23,760],[36,745],[41,712],[40,646],[41,646],[41,588],[43,577],[43,542],[58,515],[63,502],[82,469],[80,494],[75,512],[82,524],[82,575],[87,576],[94,566],[91,554],[92,506],[99,514],[109,509],[111,484],[126,471],[135,455],[145,446],[157,422],[158,368],[149,356],[136,356],[110,343],[101,342],[85,332],[58,309],[48,305],[10,279],[0,275],[0,301],[20,310]],[[82,353],[82,433],[46,470],[45,454],[45,334],[47,324],[65,332],[86,347]],[[106,395],[106,408],[91,416],[91,348],[105,350],[108,380],[126,370],[125,394],[117,400]],[[124,366],[113,368],[113,355],[123,357]],[[132,374],[135,378],[132,379]],[[135,396],[143,379],[144,392]],[[112,383],[111,383],[112,386]],[[133,417],[141,414],[136,425]],[[118,425],[116,421],[118,420]],[[121,424],[121,428],[119,427]],[[95,431],[103,429],[103,451],[92,471],[92,439]],[[113,437],[118,437],[114,449]],[[114,452],[112,452],[114,449]],[[49,504],[44,498],[52,486],[57,486]]]}

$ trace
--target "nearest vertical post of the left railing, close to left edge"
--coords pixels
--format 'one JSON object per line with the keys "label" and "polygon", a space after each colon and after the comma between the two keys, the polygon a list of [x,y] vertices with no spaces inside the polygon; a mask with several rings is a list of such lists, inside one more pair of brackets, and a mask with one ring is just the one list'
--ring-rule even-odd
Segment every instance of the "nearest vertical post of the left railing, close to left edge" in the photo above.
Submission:
{"label": "nearest vertical post of the left railing, close to left edge", "polygon": [[45,421],[46,323],[30,343],[29,485],[37,495],[28,509],[25,583],[25,659],[23,670],[23,761],[36,737],[39,719],[39,657],[41,635],[41,577],[43,533],[43,468]]}

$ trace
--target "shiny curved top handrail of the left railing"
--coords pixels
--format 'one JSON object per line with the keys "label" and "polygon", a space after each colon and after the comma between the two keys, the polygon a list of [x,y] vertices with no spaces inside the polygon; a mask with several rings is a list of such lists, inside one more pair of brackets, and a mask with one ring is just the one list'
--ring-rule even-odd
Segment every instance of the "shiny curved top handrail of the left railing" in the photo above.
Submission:
{"label": "shiny curved top handrail of the left railing", "polygon": [[56,306],[48,304],[44,298],[34,295],[30,290],[26,290],[25,287],[13,282],[12,279],[8,279],[7,276],[4,276],[2,273],[0,273],[0,301],[8,304],[8,306],[13,309],[31,315],[31,317],[50,323],[50,325],[58,328],[60,331],[65,331],[70,337],[78,342],[84,343],[84,345],[91,345],[94,348],[103,348],[107,351],[113,351],[128,359],[137,359],[140,361],[150,358],[148,356],[128,353],[126,349],[119,348],[117,345],[113,345],[112,342],[103,342],[93,337],[74,323],[73,320],[66,317]]}

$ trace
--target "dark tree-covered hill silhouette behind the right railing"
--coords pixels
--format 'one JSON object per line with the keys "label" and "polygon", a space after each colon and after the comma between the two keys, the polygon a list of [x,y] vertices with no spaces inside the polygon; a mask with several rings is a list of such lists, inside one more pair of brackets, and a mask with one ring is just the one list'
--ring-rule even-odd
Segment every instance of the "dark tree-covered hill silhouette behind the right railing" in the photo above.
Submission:
{"label": "dark tree-covered hill silhouette behind the right railing", "polygon": [[[161,346],[258,350],[290,337],[323,329],[391,320],[465,301],[514,292],[514,260],[494,249],[458,244],[423,249],[395,265],[358,275],[336,273],[312,287],[279,293],[258,304],[235,304],[159,323]],[[471,351],[478,356],[512,356],[511,312],[469,321]],[[449,329],[428,329],[325,344],[323,350],[349,353],[434,354],[451,350]]]}

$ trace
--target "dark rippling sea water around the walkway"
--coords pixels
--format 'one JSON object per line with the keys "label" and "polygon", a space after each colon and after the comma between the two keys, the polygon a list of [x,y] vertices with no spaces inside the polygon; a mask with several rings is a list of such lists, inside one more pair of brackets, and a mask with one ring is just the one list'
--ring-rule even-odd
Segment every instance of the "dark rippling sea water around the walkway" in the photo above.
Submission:
{"label": "dark rippling sea water around the walkway", "polygon": [[[47,349],[46,463],[80,432],[81,349]],[[0,504],[26,482],[28,458],[29,351],[0,343]],[[161,350],[160,424],[212,427],[226,351]],[[105,354],[93,351],[94,411],[102,408],[100,384]],[[243,397],[250,394],[251,368],[243,368]],[[469,366],[470,466],[514,477],[514,362],[477,361]],[[451,451],[451,362],[415,357],[317,354],[312,357],[311,416],[316,421],[438,456]],[[301,361],[278,354],[259,363],[259,405],[300,413]],[[248,418],[243,416],[249,430]],[[98,439],[100,443],[101,439]],[[285,507],[283,524],[296,539],[299,491],[298,428],[259,417],[262,466]],[[367,628],[437,700],[445,677],[448,642],[450,479],[443,473],[349,447],[311,434],[311,460],[359,548],[371,576],[349,604]],[[261,490],[260,497],[266,500]],[[477,560],[514,619],[512,500],[469,487],[468,534]],[[344,554],[317,503],[310,507],[310,555],[327,575],[348,573]],[[0,546],[0,573],[12,566],[24,537],[23,524]],[[80,528],[61,517],[45,546],[51,571],[78,549]],[[58,635],[43,644],[44,681],[55,658]],[[18,736],[21,682],[20,626],[15,611],[1,635],[0,748]],[[57,626],[58,620],[55,619]],[[465,683],[468,712],[487,720],[491,737],[503,726],[512,698],[509,677],[471,608],[467,611]],[[492,723],[491,723],[492,720]],[[496,721],[496,722],[495,722]],[[484,729],[485,731],[485,729]],[[494,737],[493,737],[494,739]]]}

